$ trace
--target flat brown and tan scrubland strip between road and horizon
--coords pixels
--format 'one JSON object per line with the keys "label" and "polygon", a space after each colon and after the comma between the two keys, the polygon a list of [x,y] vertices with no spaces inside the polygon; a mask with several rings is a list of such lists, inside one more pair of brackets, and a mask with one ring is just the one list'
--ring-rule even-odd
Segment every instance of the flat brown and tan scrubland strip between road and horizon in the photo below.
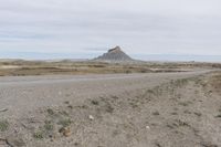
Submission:
{"label": "flat brown and tan scrubland strip between road and horizon", "polygon": [[0,60],[0,76],[164,73],[221,69],[221,63]]}

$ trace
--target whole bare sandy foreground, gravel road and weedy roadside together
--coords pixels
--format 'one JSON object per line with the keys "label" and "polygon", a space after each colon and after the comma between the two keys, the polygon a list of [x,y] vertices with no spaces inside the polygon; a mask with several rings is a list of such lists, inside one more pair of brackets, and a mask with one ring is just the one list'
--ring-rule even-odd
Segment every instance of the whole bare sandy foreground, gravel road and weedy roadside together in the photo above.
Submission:
{"label": "whole bare sandy foreground, gravel road and weedy roadside together", "polygon": [[217,74],[0,77],[0,147],[221,146]]}

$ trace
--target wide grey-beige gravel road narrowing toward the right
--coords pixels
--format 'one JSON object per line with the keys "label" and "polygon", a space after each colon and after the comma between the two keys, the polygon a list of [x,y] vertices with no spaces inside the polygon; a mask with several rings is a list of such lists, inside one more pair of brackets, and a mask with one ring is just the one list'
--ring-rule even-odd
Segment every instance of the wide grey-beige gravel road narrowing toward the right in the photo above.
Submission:
{"label": "wide grey-beige gravel road narrowing toward the right", "polygon": [[[190,77],[209,71],[186,73],[110,74],[76,76],[0,77],[0,109],[10,116],[25,115],[64,101],[84,101],[102,95],[116,95],[149,88],[171,80]],[[15,111],[14,111],[15,109]]]}

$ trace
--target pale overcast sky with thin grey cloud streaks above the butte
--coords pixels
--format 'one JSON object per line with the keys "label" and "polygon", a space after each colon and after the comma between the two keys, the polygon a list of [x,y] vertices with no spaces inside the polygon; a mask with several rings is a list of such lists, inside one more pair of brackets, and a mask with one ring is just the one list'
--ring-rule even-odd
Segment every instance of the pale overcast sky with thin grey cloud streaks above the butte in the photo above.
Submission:
{"label": "pale overcast sky with thin grey cloud streaks above the butte", "polygon": [[93,57],[115,45],[131,56],[221,55],[221,1],[0,0],[0,57]]}

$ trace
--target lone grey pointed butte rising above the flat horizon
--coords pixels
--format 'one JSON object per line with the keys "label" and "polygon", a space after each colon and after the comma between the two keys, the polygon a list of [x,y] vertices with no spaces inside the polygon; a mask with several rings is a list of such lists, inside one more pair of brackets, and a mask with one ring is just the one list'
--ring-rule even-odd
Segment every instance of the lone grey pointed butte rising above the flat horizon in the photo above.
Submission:
{"label": "lone grey pointed butte rising above the flat horizon", "polygon": [[134,61],[129,55],[122,51],[119,46],[108,50],[107,53],[95,59],[96,61],[107,62],[130,62]]}

